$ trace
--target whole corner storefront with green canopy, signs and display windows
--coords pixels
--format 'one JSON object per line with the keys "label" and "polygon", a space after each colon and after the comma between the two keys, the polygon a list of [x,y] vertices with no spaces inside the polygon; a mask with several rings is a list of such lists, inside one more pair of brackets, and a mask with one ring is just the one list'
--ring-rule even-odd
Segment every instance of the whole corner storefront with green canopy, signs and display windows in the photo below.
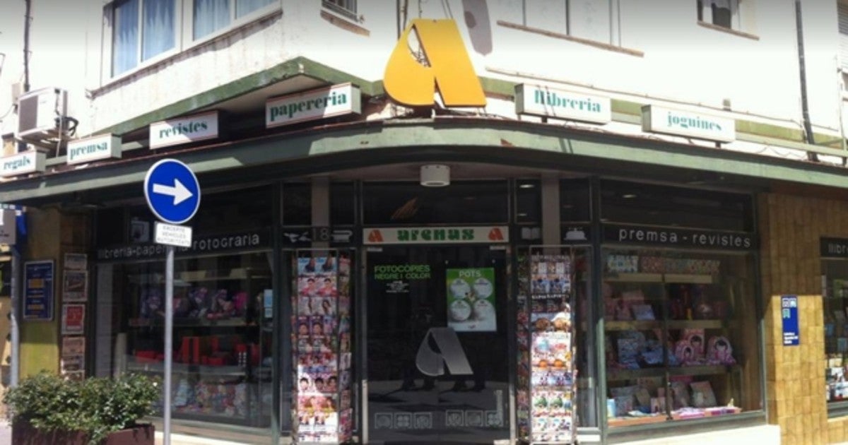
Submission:
{"label": "whole corner storefront with green canopy, signs and display windows", "polygon": [[[257,11],[262,38],[288,20]],[[162,374],[165,249],[142,181],[175,158],[203,189],[176,252],[176,432],[845,441],[842,166],[763,155],[812,147],[727,110],[486,77],[474,54],[441,70],[470,47],[454,20],[397,34],[370,81],[286,54],[148,109],[120,78],[94,92],[108,128],[43,169],[7,159],[0,200],[49,234],[24,255],[57,282],[53,312],[22,324],[22,375]]]}

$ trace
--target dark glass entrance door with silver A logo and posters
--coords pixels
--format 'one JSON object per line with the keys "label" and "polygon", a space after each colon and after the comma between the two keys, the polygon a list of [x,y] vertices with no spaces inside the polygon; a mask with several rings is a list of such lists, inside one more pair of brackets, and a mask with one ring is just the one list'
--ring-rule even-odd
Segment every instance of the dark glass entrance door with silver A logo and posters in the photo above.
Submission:
{"label": "dark glass entrance door with silver A logo and posters", "polygon": [[385,247],[366,264],[369,442],[509,439],[505,251]]}

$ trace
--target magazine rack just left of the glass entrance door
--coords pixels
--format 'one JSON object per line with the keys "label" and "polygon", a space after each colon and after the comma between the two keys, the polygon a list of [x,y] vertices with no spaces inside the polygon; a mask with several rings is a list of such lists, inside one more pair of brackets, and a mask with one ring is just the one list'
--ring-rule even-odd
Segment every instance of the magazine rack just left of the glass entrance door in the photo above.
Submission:
{"label": "magazine rack just left of the glass entrance door", "polygon": [[293,437],[343,443],[353,431],[350,353],[350,256],[338,250],[295,253]]}

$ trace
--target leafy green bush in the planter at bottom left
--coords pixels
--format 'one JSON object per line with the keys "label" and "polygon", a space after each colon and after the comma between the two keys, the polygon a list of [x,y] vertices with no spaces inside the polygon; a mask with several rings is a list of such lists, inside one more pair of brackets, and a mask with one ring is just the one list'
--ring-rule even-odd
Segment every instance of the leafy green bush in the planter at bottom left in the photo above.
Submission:
{"label": "leafy green bush in the planter at bottom left", "polygon": [[42,371],[21,379],[3,402],[13,422],[25,421],[44,431],[85,431],[89,443],[96,444],[153,414],[160,396],[158,381],[145,375],[71,381]]}

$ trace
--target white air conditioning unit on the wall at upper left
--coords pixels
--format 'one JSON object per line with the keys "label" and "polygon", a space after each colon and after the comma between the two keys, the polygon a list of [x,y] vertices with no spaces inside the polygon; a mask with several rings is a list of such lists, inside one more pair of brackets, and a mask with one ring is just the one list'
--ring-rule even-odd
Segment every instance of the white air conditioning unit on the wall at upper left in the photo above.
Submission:
{"label": "white air conditioning unit on the wall at upper left", "polygon": [[40,142],[62,136],[68,114],[68,92],[61,88],[42,88],[18,97],[19,139]]}

